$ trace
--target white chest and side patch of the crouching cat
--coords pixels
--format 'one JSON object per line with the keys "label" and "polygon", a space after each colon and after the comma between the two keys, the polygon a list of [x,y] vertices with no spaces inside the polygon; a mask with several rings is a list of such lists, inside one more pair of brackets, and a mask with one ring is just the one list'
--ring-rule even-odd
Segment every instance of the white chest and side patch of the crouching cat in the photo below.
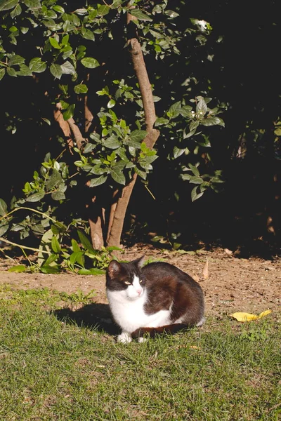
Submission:
{"label": "white chest and side patch of the crouching cat", "polygon": [[146,291],[136,300],[128,300],[120,291],[107,290],[107,298],[115,321],[125,332],[132,333],[138,328],[157,328],[170,323],[169,310],[145,314]]}

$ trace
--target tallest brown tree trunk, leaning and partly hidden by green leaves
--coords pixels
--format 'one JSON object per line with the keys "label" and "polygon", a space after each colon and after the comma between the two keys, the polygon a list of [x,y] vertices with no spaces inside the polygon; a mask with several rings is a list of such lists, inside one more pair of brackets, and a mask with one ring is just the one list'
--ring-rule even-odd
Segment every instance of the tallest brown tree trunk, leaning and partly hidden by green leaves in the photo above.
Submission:
{"label": "tallest brown tree trunk, leaning and partly hidden by green leaves", "polygon": [[[127,24],[129,25],[131,20],[134,19],[135,18],[128,13]],[[131,59],[133,62],[133,68],[135,69],[136,76],[138,78],[138,84],[141,90],[141,99],[143,100],[143,109],[145,112],[145,124],[148,135],[145,137],[144,142],[145,145],[152,149],[152,147],[155,145],[155,142],[157,141],[157,138],[159,137],[159,131],[153,128],[153,124],[156,120],[156,114],[151,84],[148,78],[147,69],[145,67],[145,61],[143,60],[141,44],[138,42],[138,39],[133,38],[129,41],[129,45],[131,46]],[[122,196],[117,201],[114,217],[112,220],[112,226],[108,235],[108,246],[120,246],[126,209],[131,197],[131,192],[133,191],[133,186],[136,183],[136,178],[137,175],[134,173],[133,178],[129,184],[122,189]]]}

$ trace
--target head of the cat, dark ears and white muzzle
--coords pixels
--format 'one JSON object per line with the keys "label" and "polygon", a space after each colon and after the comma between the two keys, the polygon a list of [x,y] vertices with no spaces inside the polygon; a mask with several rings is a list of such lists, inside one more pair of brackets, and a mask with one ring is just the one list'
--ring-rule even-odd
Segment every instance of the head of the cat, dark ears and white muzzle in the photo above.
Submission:
{"label": "head of the cat, dark ears and white muzzle", "polygon": [[145,279],[141,276],[141,267],[145,256],[129,263],[112,260],[106,271],[106,288],[119,291],[128,300],[136,300],[143,295]]}

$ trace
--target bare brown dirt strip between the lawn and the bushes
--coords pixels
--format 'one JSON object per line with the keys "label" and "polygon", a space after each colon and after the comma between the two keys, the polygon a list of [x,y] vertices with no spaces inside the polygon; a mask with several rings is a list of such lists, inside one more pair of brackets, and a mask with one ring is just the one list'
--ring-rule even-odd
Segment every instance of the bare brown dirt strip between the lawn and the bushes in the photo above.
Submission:
{"label": "bare brown dirt strip between the lawn and the bushes", "polygon": [[[133,260],[142,255],[150,261],[169,262],[193,276],[204,290],[207,316],[208,314],[223,316],[233,312],[259,313],[266,309],[272,309],[273,314],[280,316],[280,258],[275,260],[235,258],[231,250],[227,249],[181,254],[163,252],[152,246],[140,244],[127,248],[122,260]],[[9,266],[11,263],[8,260],[0,260],[0,283],[11,284],[14,288],[48,287],[67,293],[77,290],[87,293],[94,289],[96,297],[93,301],[97,305],[107,303],[104,275],[15,273],[7,271]]]}

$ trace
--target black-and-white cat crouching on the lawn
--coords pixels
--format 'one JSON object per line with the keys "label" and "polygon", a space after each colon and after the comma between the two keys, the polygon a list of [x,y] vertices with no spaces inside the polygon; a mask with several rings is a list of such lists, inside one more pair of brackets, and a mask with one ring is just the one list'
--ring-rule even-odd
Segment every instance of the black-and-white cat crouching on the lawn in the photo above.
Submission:
{"label": "black-and-white cat crouching on the lawn", "polygon": [[176,332],[204,323],[204,294],[191,276],[166,262],[145,265],[145,256],[128,263],[112,260],[106,293],[112,316],[122,329],[118,342],[155,333]]}

